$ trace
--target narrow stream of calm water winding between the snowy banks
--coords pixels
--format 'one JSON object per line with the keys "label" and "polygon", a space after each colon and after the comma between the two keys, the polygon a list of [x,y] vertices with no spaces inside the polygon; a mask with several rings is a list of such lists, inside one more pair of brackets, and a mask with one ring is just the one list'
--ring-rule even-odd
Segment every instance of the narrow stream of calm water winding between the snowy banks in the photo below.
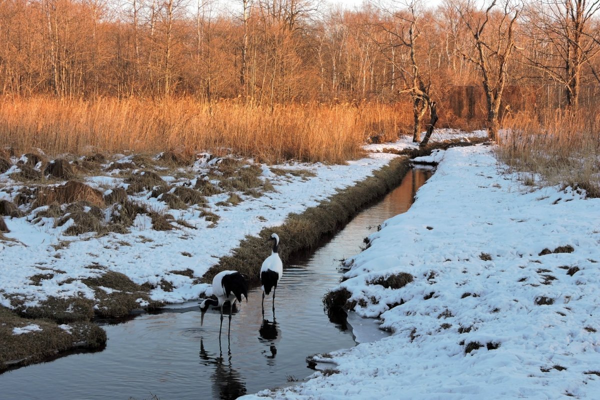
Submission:
{"label": "narrow stream of calm water winding between the snowy banks", "polygon": [[313,372],[307,356],[355,345],[351,330],[323,310],[323,295],[339,282],[340,260],[361,251],[364,237],[385,219],[405,212],[430,174],[409,171],[385,199],[285,266],[275,315],[269,297],[263,320],[259,287],[233,315],[229,336],[224,319],[221,339],[216,311],[200,327],[197,301],[104,324],[105,350],[5,372],[0,399],[235,399],[304,379]]}

